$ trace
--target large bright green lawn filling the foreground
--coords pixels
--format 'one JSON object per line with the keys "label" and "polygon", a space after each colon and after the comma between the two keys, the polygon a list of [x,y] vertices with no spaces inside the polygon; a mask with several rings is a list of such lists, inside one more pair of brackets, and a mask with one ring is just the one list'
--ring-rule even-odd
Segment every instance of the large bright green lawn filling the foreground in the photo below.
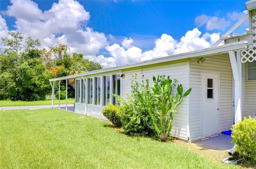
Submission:
{"label": "large bright green lawn filling the foreground", "polygon": [[[64,110],[1,111],[1,168],[237,168]],[[189,145],[189,144],[188,144]]]}

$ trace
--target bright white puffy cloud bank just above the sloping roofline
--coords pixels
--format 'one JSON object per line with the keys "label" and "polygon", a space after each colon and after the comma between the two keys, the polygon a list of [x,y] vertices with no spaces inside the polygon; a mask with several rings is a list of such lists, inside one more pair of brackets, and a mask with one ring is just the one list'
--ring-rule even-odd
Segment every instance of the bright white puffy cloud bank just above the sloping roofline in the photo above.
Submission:
{"label": "bright white puffy cloud bank just above the sloping roofline", "polygon": [[[160,38],[156,39],[154,49],[149,51],[142,52],[136,46],[132,46],[126,50],[119,44],[113,44],[106,47],[110,57],[107,58],[104,55],[99,55],[98,57],[87,56],[87,58],[93,61],[100,61],[104,67],[111,67],[205,49],[215,43],[219,37],[219,33],[206,33],[202,35],[201,31],[194,28],[193,30],[187,31],[185,36],[179,40],[174,39],[171,35],[162,34]],[[123,43],[125,42],[126,39],[124,39]]]}

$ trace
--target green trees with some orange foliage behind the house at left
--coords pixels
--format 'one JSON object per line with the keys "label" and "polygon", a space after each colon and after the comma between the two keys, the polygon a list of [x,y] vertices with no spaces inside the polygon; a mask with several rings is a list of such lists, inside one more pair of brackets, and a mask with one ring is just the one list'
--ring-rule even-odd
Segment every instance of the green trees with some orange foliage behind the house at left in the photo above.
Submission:
{"label": "green trees with some orange foliage behind the house at left", "polygon": [[[44,100],[51,94],[49,79],[102,68],[81,53],[70,55],[67,45],[40,48],[39,39],[25,39],[19,31],[10,31],[9,37],[1,37],[1,42],[4,47],[0,53],[0,100]],[[65,98],[65,86],[62,83],[61,98]],[[72,80],[68,83],[68,93],[74,98]]]}

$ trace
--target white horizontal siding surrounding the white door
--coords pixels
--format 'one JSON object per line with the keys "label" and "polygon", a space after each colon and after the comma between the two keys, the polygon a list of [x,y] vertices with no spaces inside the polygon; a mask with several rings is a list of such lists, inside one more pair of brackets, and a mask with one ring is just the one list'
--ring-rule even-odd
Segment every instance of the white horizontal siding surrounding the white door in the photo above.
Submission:
{"label": "white horizontal siding surrounding the white door", "polygon": [[201,73],[220,74],[219,79],[219,132],[230,130],[232,124],[232,69],[228,54],[205,57],[203,63],[190,59],[189,128],[191,140],[202,136]]}

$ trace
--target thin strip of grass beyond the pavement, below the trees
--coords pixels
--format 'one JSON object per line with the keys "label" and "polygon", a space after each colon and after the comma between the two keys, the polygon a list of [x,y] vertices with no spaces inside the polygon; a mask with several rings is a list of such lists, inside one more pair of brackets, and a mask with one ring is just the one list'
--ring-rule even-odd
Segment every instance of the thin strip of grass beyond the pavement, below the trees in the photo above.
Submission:
{"label": "thin strip of grass beyond the pavement, below the trees", "polygon": [[[74,99],[68,98],[68,104],[73,104]],[[52,100],[40,100],[40,101],[6,101],[0,100],[0,107],[9,106],[38,106],[38,105],[51,105]],[[59,100],[55,99],[54,104],[59,104]],[[60,104],[66,104],[66,100],[60,100]]]}

